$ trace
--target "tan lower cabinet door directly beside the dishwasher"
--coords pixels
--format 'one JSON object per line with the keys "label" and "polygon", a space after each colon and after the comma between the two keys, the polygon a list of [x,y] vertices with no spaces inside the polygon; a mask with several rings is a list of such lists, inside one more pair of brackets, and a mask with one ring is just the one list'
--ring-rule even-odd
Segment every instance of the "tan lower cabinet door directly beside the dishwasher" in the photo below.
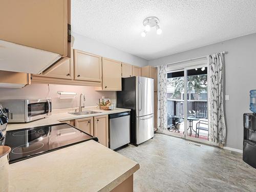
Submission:
{"label": "tan lower cabinet door directly beside the dishwasher", "polygon": [[99,139],[99,143],[109,147],[109,117],[101,115],[94,117],[94,137]]}

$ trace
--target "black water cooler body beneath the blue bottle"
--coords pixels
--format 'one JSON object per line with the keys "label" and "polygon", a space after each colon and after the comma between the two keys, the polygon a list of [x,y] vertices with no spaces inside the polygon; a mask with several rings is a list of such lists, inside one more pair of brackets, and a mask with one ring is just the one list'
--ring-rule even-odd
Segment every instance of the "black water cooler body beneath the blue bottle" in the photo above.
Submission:
{"label": "black water cooler body beneath the blue bottle", "polygon": [[256,114],[244,114],[243,160],[256,168]]}

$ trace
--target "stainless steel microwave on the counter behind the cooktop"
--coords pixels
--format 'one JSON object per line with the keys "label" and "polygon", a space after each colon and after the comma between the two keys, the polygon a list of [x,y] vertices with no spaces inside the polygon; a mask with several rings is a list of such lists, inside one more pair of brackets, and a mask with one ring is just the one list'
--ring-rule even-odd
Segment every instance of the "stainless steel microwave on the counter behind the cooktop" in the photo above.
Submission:
{"label": "stainless steel microwave on the counter behind the cooktop", "polygon": [[9,109],[10,123],[30,122],[52,114],[51,99],[8,99],[0,103]]}

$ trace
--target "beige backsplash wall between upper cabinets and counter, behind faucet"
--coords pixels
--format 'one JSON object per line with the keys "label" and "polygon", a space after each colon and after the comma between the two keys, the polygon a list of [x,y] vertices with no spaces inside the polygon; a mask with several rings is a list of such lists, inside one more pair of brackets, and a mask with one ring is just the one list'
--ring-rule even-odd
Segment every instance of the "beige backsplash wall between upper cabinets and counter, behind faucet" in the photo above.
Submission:
{"label": "beige backsplash wall between upper cabinets and counter, behind faucet", "polygon": [[[75,99],[60,99],[57,91],[76,92]],[[57,84],[32,84],[23,89],[0,89],[1,99],[35,99],[46,98],[52,99],[53,109],[74,108],[79,105],[79,96],[84,93],[86,96],[86,106],[95,106],[98,99],[102,96],[110,98],[116,103],[116,92],[111,91],[94,91],[94,87],[84,86],[64,86]]]}

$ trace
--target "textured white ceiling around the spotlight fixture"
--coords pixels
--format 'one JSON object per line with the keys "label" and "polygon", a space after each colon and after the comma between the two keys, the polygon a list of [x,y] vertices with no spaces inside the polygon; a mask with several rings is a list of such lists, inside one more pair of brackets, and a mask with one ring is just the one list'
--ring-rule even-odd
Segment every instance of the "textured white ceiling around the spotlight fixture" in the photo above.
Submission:
{"label": "textured white ceiling around the spotlight fixture", "polygon": [[[160,19],[145,38],[142,21]],[[256,0],[73,0],[72,30],[147,60],[256,32]]]}

